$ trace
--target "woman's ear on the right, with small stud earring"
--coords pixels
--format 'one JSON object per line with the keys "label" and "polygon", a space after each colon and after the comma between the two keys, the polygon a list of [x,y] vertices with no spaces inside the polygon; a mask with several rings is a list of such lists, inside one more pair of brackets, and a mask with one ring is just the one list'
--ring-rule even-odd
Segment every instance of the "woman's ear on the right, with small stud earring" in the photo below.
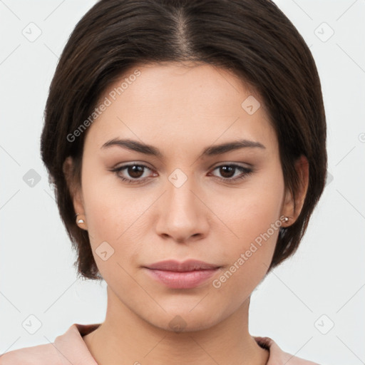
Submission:
{"label": "woman's ear on the right, with small stud earring", "polygon": [[309,162],[304,155],[295,162],[295,170],[298,175],[298,190],[295,196],[295,210],[294,210],[294,198],[292,192],[287,189],[285,193],[284,205],[282,207],[282,215],[289,218],[289,225],[292,225],[302,211],[305,196],[307,195],[309,184]]}

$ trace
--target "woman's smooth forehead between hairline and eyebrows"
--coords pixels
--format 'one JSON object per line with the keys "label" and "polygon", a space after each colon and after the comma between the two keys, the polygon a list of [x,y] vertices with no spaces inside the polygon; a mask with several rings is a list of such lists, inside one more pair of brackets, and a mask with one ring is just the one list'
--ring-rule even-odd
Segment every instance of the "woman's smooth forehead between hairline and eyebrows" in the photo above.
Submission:
{"label": "woman's smooth forehead between hairline and eyebrows", "polygon": [[89,127],[93,138],[86,138],[98,148],[111,138],[185,148],[247,138],[276,147],[260,96],[235,74],[206,63],[134,66],[108,87],[97,106],[102,103],[108,106]]}

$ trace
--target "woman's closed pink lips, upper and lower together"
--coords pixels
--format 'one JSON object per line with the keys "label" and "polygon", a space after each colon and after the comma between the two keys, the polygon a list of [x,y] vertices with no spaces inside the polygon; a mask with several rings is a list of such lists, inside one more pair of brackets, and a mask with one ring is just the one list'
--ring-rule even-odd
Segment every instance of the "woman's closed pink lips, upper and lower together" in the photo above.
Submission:
{"label": "woman's closed pink lips, upper and lower together", "polygon": [[198,260],[178,262],[168,260],[150,264],[147,269],[150,277],[172,289],[191,289],[212,277],[219,266]]}

